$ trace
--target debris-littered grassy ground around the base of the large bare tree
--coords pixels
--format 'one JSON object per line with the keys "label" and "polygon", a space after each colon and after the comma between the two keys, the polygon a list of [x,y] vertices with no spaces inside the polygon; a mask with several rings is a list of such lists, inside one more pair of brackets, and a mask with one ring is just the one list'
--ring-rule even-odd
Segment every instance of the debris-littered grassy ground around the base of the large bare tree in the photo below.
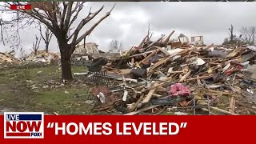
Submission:
{"label": "debris-littered grassy ground around the base of the large bare tree", "polygon": [[[85,66],[72,66],[73,73],[86,72]],[[256,79],[256,65],[249,66]],[[91,100],[91,87],[81,79],[70,84],[60,81],[59,66],[12,67],[0,70],[0,114],[5,111],[43,111],[45,114],[95,114]],[[256,91],[250,96],[256,103]],[[221,99],[218,107],[228,110],[230,100]],[[224,102],[225,101],[225,102]],[[242,105],[245,106],[245,105]],[[254,106],[249,106],[255,109]],[[166,112],[164,114],[173,114]],[[254,113],[250,113],[254,114]],[[255,113],[256,114],[256,113]]]}

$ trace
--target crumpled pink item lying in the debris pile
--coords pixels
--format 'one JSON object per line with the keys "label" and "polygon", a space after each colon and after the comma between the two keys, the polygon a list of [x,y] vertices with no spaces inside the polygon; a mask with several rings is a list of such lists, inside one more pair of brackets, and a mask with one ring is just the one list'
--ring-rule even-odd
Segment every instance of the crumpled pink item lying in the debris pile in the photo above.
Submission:
{"label": "crumpled pink item lying in the debris pile", "polygon": [[175,83],[174,85],[171,85],[168,92],[173,96],[180,95],[187,97],[190,95],[190,90],[186,86],[183,86],[182,83]]}

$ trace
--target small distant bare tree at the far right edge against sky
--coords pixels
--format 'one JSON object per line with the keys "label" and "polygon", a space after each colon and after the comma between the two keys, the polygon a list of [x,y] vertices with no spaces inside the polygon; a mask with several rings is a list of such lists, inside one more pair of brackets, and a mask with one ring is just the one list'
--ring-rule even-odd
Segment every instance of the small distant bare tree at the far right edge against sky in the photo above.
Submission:
{"label": "small distant bare tree at the far right edge against sky", "polygon": [[240,30],[240,33],[242,34],[242,39],[244,42],[250,45],[255,44],[255,36],[256,36],[256,27],[250,26],[250,27],[242,27]]}

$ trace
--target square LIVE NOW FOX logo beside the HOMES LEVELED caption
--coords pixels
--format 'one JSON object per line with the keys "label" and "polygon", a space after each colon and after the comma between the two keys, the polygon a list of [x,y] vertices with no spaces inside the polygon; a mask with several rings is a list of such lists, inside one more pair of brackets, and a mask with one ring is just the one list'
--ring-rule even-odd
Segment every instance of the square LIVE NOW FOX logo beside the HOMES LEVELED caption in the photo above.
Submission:
{"label": "square LIVE NOW FOX logo beside the HOMES LEVELED caption", "polygon": [[4,138],[43,138],[42,112],[4,113]]}

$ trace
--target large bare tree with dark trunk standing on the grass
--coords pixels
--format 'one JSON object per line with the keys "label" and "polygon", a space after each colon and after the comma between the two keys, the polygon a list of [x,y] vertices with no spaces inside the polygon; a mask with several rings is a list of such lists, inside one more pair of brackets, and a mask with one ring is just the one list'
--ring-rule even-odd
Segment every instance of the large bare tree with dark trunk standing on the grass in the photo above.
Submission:
{"label": "large bare tree with dark trunk standing on the grass", "polygon": [[[85,2],[5,2],[7,6],[10,4],[31,4],[32,10],[16,10],[18,12],[16,18],[14,19],[26,19],[27,21],[36,19],[47,26],[50,31],[58,40],[58,46],[61,53],[61,63],[62,63],[62,79],[72,80],[73,76],[71,73],[70,57],[73,54],[76,45],[81,42],[86,36],[88,36],[98,24],[100,24],[104,19],[110,16],[111,11],[114,6],[108,11],[102,18],[99,18],[86,32],[79,33],[82,28],[91,22],[104,8],[102,6],[100,9],[92,12],[91,9],[86,16],[78,22],[77,26],[73,26],[78,15],[84,7]],[[84,14],[84,13],[82,13]],[[31,20],[30,20],[31,21]],[[13,21],[13,22],[21,22]],[[70,32],[70,27],[75,27],[74,31]],[[78,36],[79,35],[79,36]]]}

